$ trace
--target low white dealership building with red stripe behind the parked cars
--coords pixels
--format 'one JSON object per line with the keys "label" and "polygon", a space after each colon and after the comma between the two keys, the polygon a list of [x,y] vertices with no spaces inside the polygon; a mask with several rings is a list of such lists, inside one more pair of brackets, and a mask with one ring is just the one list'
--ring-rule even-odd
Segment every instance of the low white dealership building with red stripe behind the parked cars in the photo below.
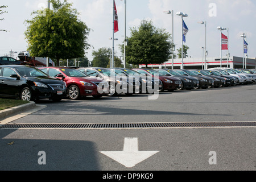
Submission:
{"label": "low white dealership building with red stripe behind the parked cars", "polygon": [[[205,59],[204,59],[205,60]],[[184,69],[208,69],[214,67],[229,67],[229,68],[243,68],[243,60],[245,68],[247,69],[255,69],[256,68],[256,57],[255,58],[244,58],[243,57],[222,57],[222,61],[220,57],[207,57],[207,61],[201,58],[184,58],[183,59],[183,68]],[[229,61],[227,61],[229,60]],[[174,59],[174,69],[181,69],[181,59]],[[139,68],[145,68],[146,65],[139,65]],[[151,69],[163,69],[163,68],[172,68],[172,59],[163,64],[148,64],[148,68]]]}

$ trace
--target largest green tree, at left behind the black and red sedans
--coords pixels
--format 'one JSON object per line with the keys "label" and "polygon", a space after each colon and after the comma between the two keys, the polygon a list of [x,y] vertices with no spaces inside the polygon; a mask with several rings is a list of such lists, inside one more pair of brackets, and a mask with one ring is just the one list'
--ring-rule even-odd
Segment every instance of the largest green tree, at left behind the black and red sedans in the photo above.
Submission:
{"label": "largest green tree, at left behind the black and red sedans", "polygon": [[67,0],[50,0],[52,10],[34,11],[25,36],[31,56],[60,59],[84,57],[90,29],[79,20],[76,9]]}

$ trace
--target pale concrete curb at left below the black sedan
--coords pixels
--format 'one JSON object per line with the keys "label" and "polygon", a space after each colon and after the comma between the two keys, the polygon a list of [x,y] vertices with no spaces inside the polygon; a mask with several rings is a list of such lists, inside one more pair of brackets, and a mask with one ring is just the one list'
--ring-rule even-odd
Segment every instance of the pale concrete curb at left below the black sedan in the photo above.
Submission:
{"label": "pale concrete curb at left below the black sedan", "polygon": [[0,111],[0,119],[6,118],[11,114],[15,114],[15,113],[18,113],[20,111],[24,111],[24,110],[27,110],[27,109],[32,109],[35,106],[36,106],[35,102],[30,102],[28,104],[23,104],[23,105],[19,105],[19,106],[16,106],[16,107],[11,107],[9,109],[2,110],[2,111]]}

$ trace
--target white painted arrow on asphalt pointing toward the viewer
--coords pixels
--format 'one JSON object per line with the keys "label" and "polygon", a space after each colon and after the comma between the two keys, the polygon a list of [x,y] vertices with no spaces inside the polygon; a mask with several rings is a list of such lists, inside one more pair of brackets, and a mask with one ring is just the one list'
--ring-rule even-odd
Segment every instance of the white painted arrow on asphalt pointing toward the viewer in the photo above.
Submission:
{"label": "white painted arrow on asphalt pointing toward the viewer", "polygon": [[123,151],[101,151],[102,154],[128,168],[134,167],[157,152],[159,151],[138,151],[138,138],[125,138]]}

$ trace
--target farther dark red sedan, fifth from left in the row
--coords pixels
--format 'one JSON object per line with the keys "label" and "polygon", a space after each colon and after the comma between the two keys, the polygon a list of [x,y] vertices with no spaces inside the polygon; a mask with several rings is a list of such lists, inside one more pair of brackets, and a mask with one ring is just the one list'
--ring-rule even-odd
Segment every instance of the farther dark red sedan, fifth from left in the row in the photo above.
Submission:
{"label": "farther dark red sedan, fifth from left in the row", "polygon": [[154,71],[153,69],[133,68],[133,70],[141,73],[142,75],[151,77],[154,77],[154,75],[158,74],[159,80],[163,82],[163,89],[161,91],[168,90],[172,92],[177,88],[181,88],[181,80],[179,78],[165,76],[159,72]]}

